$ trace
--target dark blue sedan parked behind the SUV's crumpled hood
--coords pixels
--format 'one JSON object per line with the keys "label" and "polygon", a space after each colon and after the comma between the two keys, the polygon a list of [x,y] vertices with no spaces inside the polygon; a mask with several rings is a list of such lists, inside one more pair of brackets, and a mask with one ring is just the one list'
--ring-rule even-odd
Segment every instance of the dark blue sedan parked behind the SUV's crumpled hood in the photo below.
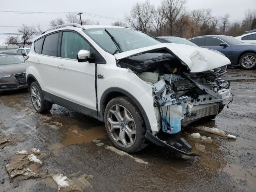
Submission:
{"label": "dark blue sedan parked behind the SUV's crumpled hood", "polygon": [[188,39],[192,43],[222,52],[233,66],[244,69],[256,68],[256,44],[243,43],[225,35],[206,35]]}

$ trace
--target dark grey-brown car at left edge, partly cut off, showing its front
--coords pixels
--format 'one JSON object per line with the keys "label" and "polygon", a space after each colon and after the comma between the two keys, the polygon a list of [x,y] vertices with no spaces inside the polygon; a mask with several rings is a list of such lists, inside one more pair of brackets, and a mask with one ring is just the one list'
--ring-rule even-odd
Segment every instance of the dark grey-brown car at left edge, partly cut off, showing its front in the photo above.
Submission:
{"label": "dark grey-brown car at left edge, partly cut off, showing its front", "polygon": [[24,56],[0,55],[0,92],[27,88]]}

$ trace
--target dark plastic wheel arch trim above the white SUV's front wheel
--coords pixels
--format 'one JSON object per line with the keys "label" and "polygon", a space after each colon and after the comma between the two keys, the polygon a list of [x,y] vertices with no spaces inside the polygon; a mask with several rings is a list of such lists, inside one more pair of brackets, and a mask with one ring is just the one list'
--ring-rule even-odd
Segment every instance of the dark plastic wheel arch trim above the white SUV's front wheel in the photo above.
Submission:
{"label": "dark plastic wheel arch trim above the white SUV's front wheel", "polygon": [[144,108],[140,104],[140,102],[132,94],[130,94],[128,91],[126,91],[122,88],[117,88],[117,87],[108,88],[107,90],[105,90],[103,92],[103,94],[100,98],[99,120],[104,121],[104,112],[105,112],[106,105],[108,104],[108,102],[110,100],[112,100],[113,98],[116,98],[118,96],[126,96],[126,97],[130,98],[132,100],[132,102],[134,102],[134,104],[136,104],[136,106],[139,108],[139,110],[142,114],[142,117],[145,121],[147,130],[151,131],[151,126],[150,126],[150,122],[148,120],[148,116],[147,116]]}

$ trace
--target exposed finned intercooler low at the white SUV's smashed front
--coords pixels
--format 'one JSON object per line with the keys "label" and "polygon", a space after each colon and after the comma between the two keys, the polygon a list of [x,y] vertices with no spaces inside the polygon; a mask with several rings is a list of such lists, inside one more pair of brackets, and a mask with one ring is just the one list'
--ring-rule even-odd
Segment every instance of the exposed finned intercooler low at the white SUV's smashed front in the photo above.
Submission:
{"label": "exposed finned intercooler low at the white SUV's smashed front", "polygon": [[192,107],[191,116],[185,117],[182,124],[186,125],[206,116],[218,115],[219,107],[219,103],[195,105]]}

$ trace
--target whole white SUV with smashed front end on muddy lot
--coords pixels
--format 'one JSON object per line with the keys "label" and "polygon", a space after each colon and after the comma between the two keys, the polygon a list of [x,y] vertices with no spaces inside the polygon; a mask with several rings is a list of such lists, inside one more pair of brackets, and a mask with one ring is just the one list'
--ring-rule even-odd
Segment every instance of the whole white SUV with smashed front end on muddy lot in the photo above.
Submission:
{"label": "whole white SUV with smashed front end on muddy lot", "polygon": [[214,118],[230,97],[229,82],[218,78],[228,58],[128,27],[57,26],[32,43],[25,60],[38,113],[58,104],[97,118],[126,152],[149,140],[195,155],[175,134],[182,124]]}

